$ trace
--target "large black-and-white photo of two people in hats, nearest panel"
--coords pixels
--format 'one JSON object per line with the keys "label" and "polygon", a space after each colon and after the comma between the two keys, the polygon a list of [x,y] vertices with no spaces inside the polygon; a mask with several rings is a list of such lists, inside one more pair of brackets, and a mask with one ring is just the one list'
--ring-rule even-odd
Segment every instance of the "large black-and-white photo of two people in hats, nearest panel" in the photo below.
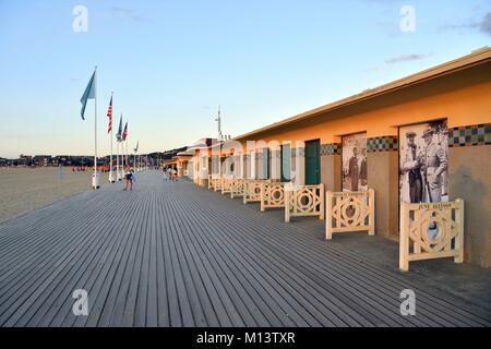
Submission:
{"label": "large black-and-white photo of two people in hats, nearest panel", "polygon": [[448,202],[446,120],[399,128],[399,192],[406,203]]}

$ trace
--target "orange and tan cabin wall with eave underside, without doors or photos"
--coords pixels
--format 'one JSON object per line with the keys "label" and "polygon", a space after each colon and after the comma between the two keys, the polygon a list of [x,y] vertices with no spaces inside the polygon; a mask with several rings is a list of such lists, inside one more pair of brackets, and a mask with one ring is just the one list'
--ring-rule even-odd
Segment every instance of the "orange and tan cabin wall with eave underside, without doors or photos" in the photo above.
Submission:
{"label": "orange and tan cabin wall with eave underside, without doors or photos", "polygon": [[[448,128],[491,123],[491,63],[440,76],[432,81],[407,86],[323,111],[307,120],[278,125],[270,131],[256,132],[247,141],[306,142],[321,140],[321,144],[340,143],[343,135],[367,132],[368,139],[397,136],[398,128],[446,119]],[[475,192],[486,193],[482,202],[491,203],[490,145],[465,146],[450,152],[451,200],[465,197],[466,262],[491,266],[491,238],[488,217],[489,204],[478,202]],[[458,156],[457,156],[458,155]],[[368,154],[369,183],[376,192],[376,230],[387,238],[398,237],[398,155],[397,152]],[[463,160],[465,159],[465,160]],[[326,188],[340,185],[340,155],[322,156],[321,178]],[[294,164],[292,164],[294,166]],[[482,170],[482,168],[487,168]],[[326,173],[326,171],[328,173]],[[482,174],[482,171],[484,174]],[[465,172],[466,180],[458,173]],[[486,174],[487,173],[487,174]],[[479,185],[477,185],[478,183]],[[472,186],[474,185],[474,186]],[[472,209],[471,213],[468,209]]]}

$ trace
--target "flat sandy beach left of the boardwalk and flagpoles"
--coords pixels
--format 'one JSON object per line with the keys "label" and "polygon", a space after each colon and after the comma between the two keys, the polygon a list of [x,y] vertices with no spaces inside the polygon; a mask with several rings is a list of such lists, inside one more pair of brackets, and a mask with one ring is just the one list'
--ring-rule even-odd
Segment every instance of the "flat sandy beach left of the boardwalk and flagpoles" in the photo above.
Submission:
{"label": "flat sandy beach left of the boardwalk and flagpoles", "polygon": [[0,222],[91,190],[91,174],[70,168],[0,168]]}

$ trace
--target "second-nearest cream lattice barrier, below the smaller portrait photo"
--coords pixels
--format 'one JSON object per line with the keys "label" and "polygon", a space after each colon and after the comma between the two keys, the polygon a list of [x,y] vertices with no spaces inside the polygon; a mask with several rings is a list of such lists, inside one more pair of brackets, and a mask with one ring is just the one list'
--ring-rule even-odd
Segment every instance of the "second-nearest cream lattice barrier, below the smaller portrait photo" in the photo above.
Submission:
{"label": "second-nearest cream lattice barrier, below the smaller portrait photo", "polygon": [[375,192],[327,192],[325,238],[334,232],[368,231],[375,234]]}

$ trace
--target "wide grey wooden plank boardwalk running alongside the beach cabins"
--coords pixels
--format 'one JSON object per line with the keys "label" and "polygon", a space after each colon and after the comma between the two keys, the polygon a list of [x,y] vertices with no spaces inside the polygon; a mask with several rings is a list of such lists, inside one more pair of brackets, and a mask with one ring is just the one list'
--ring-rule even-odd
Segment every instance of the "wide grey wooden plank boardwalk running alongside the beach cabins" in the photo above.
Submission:
{"label": "wide grey wooden plank boardwalk running alongside the beach cabins", "polygon": [[[75,289],[88,316],[72,313]],[[416,316],[400,315],[404,289]],[[156,172],[0,225],[1,326],[490,326],[490,314]]]}

